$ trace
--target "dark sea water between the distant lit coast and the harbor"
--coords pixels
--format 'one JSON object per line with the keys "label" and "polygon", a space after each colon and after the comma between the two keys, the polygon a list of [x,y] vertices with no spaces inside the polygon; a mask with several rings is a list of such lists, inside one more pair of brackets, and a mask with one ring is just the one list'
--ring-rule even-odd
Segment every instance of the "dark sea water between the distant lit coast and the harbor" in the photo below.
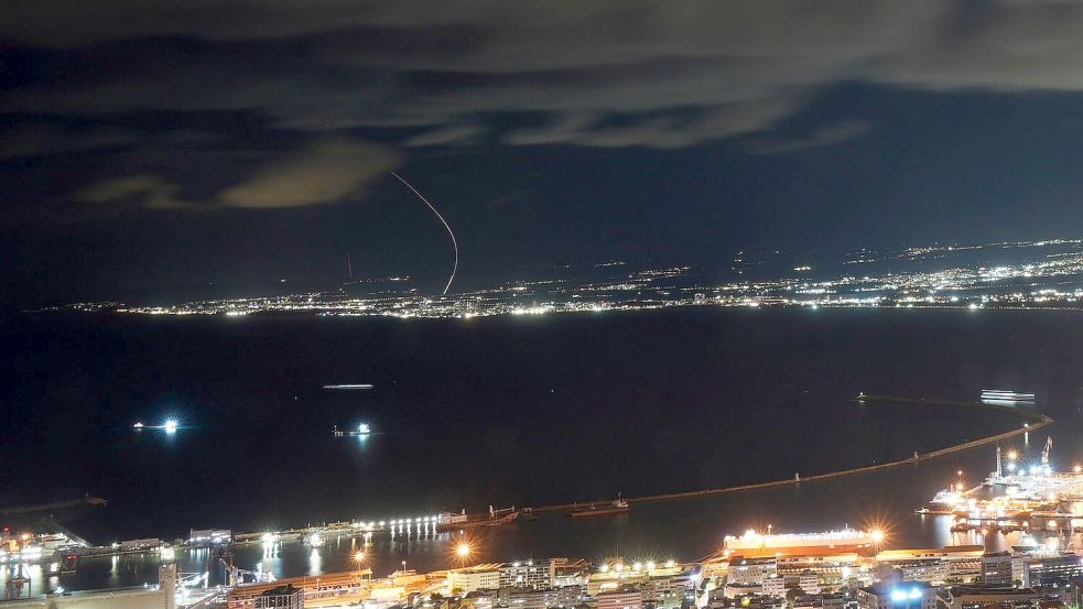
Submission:
{"label": "dark sea water between the distant lit coast and the harbor", "polygon": [[[20,316],[0,319],[0,505],[85,493],[57,514],[95,543],[261,531],[792,478],[1017,427],[859,392],[975,400],[1035,391],[1057,424],[1012,446],[1083,459],[1083,316],[1068,312],[671,309],[469,320]],[[372,383],[370,391],[322,389]],[[172,436],[132,424],[181,421]],[[334,425],[368,422],[366,441]],[[970,543],[913,508],[993,448],[795,487],[562,513],[480,534],[477,558],[694,559],[772,524],[890,525],[897,546]],[[349,568],[351,541],[272,555],[279,576]],[[377,575],[451,563],[447,536],[377,537]],[[181,570],[208,556],[178,553]],[[51,587],[156,580],[156,558],[98,558]],[[212,579],[220,569],[210,568]],[[10,570],[0,569],[0,578]]]}

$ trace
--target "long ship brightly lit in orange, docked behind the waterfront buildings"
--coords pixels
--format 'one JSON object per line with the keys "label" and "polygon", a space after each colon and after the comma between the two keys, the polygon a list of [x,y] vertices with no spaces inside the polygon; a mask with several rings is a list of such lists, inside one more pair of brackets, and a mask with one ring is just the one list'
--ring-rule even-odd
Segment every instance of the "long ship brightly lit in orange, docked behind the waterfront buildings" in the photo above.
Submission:
{"label": "long ship brightly lit in orange, docked behind the waterfront buildings", "polygon": [[754,558],[779,555],[849,554],[868,551],[884,541],[879,531],[825,531],[823,533],[784,533],[767,535],[751,529],[741,536],[726,535],[723,552]]}

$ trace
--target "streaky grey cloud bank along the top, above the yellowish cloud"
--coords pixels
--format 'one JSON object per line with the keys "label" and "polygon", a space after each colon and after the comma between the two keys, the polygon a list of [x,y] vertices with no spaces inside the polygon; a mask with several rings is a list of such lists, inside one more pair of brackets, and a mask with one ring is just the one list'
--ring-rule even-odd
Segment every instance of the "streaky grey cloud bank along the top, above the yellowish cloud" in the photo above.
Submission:
{"label": "streaky grey cloud bank along the top, above the yellowish cloud", "polygon": [[1063,2],[64,0],[6,12],[8,63],[39,64],[11,70],[7,111],[254,110],[281,129],[416,127],[401,142],[415,146],[469,144],[488,115],[540,112],[548,126],[498,141],[684,148],[775,128],[849,80],[1083,88],[1083,6]]}

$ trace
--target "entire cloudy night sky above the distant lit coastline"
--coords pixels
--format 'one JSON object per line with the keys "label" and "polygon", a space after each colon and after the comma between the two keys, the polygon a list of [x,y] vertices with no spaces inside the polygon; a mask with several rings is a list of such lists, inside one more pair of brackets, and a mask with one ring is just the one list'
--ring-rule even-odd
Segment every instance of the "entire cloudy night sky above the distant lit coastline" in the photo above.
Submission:
{"label": "entire cloudy night sky above the distant lit coastline", "polygon": [[[0,8],[0,306],[1083,236],[1083,4]],[[256,289],[256,287],[252,287]]]}

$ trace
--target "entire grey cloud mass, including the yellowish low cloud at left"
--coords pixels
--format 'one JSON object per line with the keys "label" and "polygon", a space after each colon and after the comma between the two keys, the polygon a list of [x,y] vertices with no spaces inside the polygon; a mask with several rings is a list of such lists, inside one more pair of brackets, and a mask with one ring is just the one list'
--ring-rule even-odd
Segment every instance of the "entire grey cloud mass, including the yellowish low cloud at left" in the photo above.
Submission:
{"label": "entire grey cloud mass, including the yellowish low cloud at left", "polygon": [[1083,89],[1083,6],[1053,1],[56,0],[4,12],[0,160],[67,155],[76,199],[154,208],[342,200],[396,151],[438,146],[799,152],[868,129],[845,113],[791,124],[842,83]]}

